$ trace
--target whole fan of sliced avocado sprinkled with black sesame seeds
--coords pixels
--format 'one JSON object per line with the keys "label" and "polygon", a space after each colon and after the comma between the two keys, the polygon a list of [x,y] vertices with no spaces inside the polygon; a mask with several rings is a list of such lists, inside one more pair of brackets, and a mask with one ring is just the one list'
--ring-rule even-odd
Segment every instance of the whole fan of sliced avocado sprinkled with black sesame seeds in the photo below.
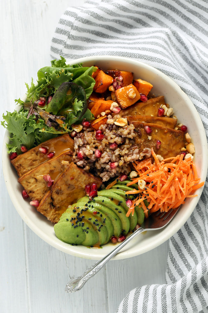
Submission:
{"label": "whole fan of sliced avocado sprinkled with black sesame seeds", "polygon": [[127,186],[128,182],[131,181],[118,181],[108,190],[98,191],[93,199],[85,196],[70,205],[54,226],[56,236],[69,244],[92,247],[107,243],[113,235],[119,237],[133,231],[137,224],[143,223],[144,212],[135,206],[133,216],[126,216],[126,200],[134,199],[128,191],[138,188],[136,184]]}

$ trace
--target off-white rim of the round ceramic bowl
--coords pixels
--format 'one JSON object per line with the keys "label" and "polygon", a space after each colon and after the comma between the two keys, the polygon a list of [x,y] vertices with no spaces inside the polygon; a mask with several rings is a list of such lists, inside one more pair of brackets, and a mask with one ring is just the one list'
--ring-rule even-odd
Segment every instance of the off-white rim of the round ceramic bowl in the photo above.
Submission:
{"label": "off-white rim of the round ceramic bowl", "polygon": [[[205,181],[206,180],[206,174],[207,174],[207,168],[208,168],[208,147],[207,147],[207,139],[206,139],[206,134],[205,134],[205,130],[201,121],[200,116],[198,115],[198,112],[195,108],[195,106],[193,105],[192,101],[190,100],[190,98],[181,90],[181,88],[176,84],[176,82],[174,82],[174,80],[172,80],[170,77],[168,77],[166,74],[162,73],[161,71],[159,71],[158,69],[152,67],[149,64],[146,64],[144,62],[135,60],[135,59],[131,59],[131,58],[126,58],[126,57],[118,57],[118,56],[109,56],[109,55],[98,55],[98,56],[90,56],[90,57],[84,57],[84,58],[79,58],[79,59],[75,59],[75,60],[70,60],[69,64],[85,64],[86,62],[94,62],[94,64],[96,64],[96,62],[99,61],[122,61],[122,62],[131,62],[132,64],[134,64],[135,66],[142,66],[145,69],[151,70],[154,74],[156,75],[160,75],[162,76],[167,82],[169,82],[170,84],[172,84],[174,86],[174,88],[177,90],[177,92],[181,95],[181,97],[185,98],[186,102],[191,105],[192,110],[194,110],[194,113],[196,114],[196,119],[197,122],[199,123],[199,127],[201,127],[202,134],[201,134],[201,140],[203,141],[203,145],[202,145],[202,153],[203,153],[203,163],[202,163],[202,174],[201,175],[201,181]],[[84,65],[83,65],[84,66]],[[13,190],[11,189],[11,177],[10,177],[10,171],[11,171],[11,167],[8,166],[8,157],[7,157],[7,148],[6,148],[6,142],[8,141],[8,131],[6,130],[5,136],[4,136],[4,140],[3,140],[3,147],[2,147],[2,169],[3,169],[3,176],[4,176],[4,180],[6,183],[6,187],[9,193],[9,196],[12,200],[12,203],[14,205],[14,207],[16,208],[18,214],[21,216],[21,218],[23,219],[23,221],[27,224],[27,226],[34,232],[36,233],[41,239],[43,239],[45,242],[47,242],[48,244],[50,244],[52,247],[65,252],[67,254],[71,254],[74,256],[78,256],[81,258],[86,258],[86,259],[100,259],[100,253],[98,253],[97,255],[94,254],[90,254],[90,250],[87,250],[87,253],[85,252],[86,249],[83,249],[83,251],[79,251],[79,249],[76,249],[76,246],[72,246],[69,244],[65,244],[62,241],[60,241],[58,239],[55,240],[54,237],[49,237],[46,233],[44,233],[44,230],[37,228],[36,223],[34,220],[30,220],[27,218],[21,203],[18,202],[18,199],[16,197],[16,195],[13,193]],[[11,163],[10,163],[11,165]],[[140,249],[140,251],[123,251],[124,249],[121,250],[121,252],[119,252],[116,256],[114,256],[113,260],[116,259],[125,259],[125,258],[130,258],[133,256],[137,256],[139,254],[143,254],[145,252],[148,252],[150,250],[152,250],[153,248],[156,248],[157,246],[159,246],[160,244],[164,243],[166,240],[168,240],[170,237],[172,237],[173,234],[177,233],[177,231],[184,225],[184,223],[186,223],[187,219],[190,217],[191,213],[193,212],[193,210],[195,209],[200,197],[201,197],[201,193],[203,191],[203,187],[201,187],[200,189],[197,190],[197,194],[198,196],[195,198],[191,199],[191,203],[193,206],[193,209],[191,211],[189,211],[188,214],[184,215],[184,218],[180,220],[179,223],[177,223],[177,225],[175,225],[175,227],[172,228],[166,228],[168,229],[167,232],[163,232],[162,236],[157,236],[158,237],[158,241],[157,243],[155,243],[155,241],[152,241],[152,243],[149,243],[146,247],[143,247],[143,249]],[[37,212],[38,213],[38,212]],[[40,213],[38,213],[40,214]],[[176,214],[177,215],[177,214]],[[187,216],[188,215],[188,216]],[[174,225],[174,220],[172,220],[170,224]],[[167,226],[168,227],[168,226]],[[157,232],[157,231],[155,231]],[[55,235],[55,234],[54,234]],[[56,238],[56,236],[55,236]],[[69,249],[70,247],[70,249]],[[78,246],[80,247],[80,246]],[[83,247],[83,246],[81,246]],[[128,245],[127,245],[128,247]],[[70,250],[70,251],[69,251]],[[99,249],[101,250],[101,249]],[[102,254],[103,255],[103,254]]]}

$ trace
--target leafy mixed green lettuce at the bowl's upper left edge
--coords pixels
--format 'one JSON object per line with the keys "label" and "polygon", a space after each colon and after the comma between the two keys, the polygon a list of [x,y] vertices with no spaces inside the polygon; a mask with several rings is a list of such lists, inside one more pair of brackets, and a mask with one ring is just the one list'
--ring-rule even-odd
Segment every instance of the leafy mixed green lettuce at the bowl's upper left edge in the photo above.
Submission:
{"label": "leafy mixed green lettuce at the bowl's upper left edge", "polygon": [[15,100],[20,110],[7,112],[1,124],[10,133],[8,153],[21,153],[48,139],[72,131],[72,124],[88,121],[94,116],[87,108],[87,99],[93,91],[94,66],[69,65],[66,60],[51,61],[37,72],[37,83],[32,79],[27,86],[26,101]]}

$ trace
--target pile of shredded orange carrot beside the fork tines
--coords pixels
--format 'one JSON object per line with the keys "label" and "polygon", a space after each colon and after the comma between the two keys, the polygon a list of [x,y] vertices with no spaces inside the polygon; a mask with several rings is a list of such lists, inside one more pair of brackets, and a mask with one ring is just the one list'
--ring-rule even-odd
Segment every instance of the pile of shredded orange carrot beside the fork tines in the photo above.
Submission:
{"label": "pile of shredded orange carrot beside the fork tines", "polygon": [[[146,187],[144,190],[133,189],[133,191],[127,192],[135,195],[138,193],[138,198],[133,200],[127,216],[134,213],[135,204],[142,206],[145,217],[148,217],[148,213],[158,210],[167,212],[171,208],[178,208],[184,203],[185,198],[196,197],[197,195],[193,193],[204,185],[204,182],[199,183],[200,179],[191,157],[183,160],[181,154],[160,162],[153,149],[151,153],[154,162],[148,158],[133,163],[139,177],[133,178],[132,182],[127,185],[130,186],[139,180],[144,180]],[[145,199],[149,203],[148,208],[143,202]]]}

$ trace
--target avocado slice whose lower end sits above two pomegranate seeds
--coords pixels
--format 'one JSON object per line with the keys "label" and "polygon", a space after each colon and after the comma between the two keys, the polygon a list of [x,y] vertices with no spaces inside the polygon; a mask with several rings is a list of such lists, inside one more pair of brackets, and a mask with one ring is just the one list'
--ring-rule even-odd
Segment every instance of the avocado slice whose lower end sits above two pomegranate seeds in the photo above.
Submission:
{"label": "avocado slice whose lower end sits above two pomegranate seeds", "polygon": [[105,213],[110,218],[111,223],[113,225],[113,228],[114,228],[113,235],[116,237],[120,236],[120,234],[122,233],[122,223],[121,223],[119,216],[112,209],[104,206],[103,204],[97,203],[96,201],[89,202],[89,197],[80,198],[78,200],[78,203],[83,202],[83,201],[85,201],[85,203],[88,202],[88,206],[89,204],[93,205],[94,209]]}

